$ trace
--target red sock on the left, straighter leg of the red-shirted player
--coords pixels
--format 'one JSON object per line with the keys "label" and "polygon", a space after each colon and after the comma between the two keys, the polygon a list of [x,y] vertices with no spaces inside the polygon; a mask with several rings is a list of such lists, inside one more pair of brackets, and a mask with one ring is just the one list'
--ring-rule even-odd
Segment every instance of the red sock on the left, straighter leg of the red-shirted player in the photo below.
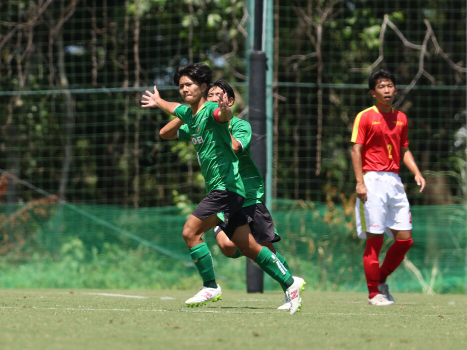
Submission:
{"label": "red sock on the left, straighter leg of the red-shirted player", "polygon": [[366,285],[368,286],[369,298],[379,293],[379,261],[378,256],[383,243],[381,237],[366,240],[366,248],[363,253],[363,270],[365,271]]}

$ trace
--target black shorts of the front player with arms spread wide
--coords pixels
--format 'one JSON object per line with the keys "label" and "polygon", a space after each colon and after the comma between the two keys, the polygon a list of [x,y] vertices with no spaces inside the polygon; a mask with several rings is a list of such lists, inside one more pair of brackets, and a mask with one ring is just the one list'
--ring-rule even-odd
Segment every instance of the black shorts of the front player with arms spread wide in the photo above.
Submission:
{"label": "black shorts of the front player with arms spread wide", "polygon": [[198,219],[207,219],[216,215],[222,221],[219,226],[230,239],[238,226],[248,223],[241,206],[245,199],[239,194],[228,190],[210,192],[191,213]]}

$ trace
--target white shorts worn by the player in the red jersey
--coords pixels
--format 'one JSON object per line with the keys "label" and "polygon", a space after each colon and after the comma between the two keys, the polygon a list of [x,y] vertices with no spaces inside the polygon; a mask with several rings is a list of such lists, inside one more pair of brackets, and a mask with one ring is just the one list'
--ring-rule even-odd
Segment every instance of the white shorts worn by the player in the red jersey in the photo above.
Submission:
{"label": "white shorts worn by the player in the red jersey", "polygon": [[390,229],[409,231],[412,217],[407,195],[396,173],[367,171],[363,176],[366,202],[355,203],[355,223],[358,237],[366,239],[366,232],[394,238]]}

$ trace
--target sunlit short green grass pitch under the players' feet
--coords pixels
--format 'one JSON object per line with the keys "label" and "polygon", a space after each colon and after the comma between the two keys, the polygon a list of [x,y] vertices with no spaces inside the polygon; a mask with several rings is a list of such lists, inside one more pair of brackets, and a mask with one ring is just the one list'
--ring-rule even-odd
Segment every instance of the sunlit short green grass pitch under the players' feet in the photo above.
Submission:
{"label": "sunlit short green grass pitch under the players' feet", "polygon": [[303,293],[290,316],[283,294],[223,291],[198,308],[196,291],[0,290],[0,349],[467,349],[467,296]]}

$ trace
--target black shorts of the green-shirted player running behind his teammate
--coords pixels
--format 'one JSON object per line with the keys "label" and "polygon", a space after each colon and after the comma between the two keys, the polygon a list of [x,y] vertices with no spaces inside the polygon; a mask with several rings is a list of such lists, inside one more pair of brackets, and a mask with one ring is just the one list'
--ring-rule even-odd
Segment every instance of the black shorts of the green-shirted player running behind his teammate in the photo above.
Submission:
{"label": "black shorts of the green-shirted player running behind his teammate", "polygon": [[[280,241],[271,214],[264,204],[258,203],[243,207],[243,212],[248,220],[250,232],[257,243]],[[220,230],[222,230],[221,227],[214,227],[214,237],[217,236]]]}

